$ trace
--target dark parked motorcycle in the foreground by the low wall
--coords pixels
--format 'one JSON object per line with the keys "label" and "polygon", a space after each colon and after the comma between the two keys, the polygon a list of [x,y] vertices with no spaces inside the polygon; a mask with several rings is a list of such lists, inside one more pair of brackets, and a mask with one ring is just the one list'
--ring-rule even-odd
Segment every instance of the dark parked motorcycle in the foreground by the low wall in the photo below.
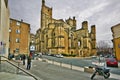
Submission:
{"label": "dark parked motorcycle in the foreground by the low wall", "polygon": [[98,67],[96,65],[95,67],[95,72],[93,73],[93,75],[91,76],[91,79],[93,79],[95,77],[95,75],[98,73],[98,75],[104,76],[105,79],[110,77],[110,69],[108,68],[102,68],[102,67]]}

